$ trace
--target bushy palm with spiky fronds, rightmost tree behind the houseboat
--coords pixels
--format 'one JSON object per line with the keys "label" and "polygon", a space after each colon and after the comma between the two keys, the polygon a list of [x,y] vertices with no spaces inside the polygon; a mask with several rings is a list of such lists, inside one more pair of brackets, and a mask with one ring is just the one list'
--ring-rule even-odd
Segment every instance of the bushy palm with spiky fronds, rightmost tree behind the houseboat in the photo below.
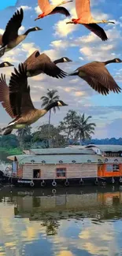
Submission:
{"label": "bushy palm with spiky fronds, rightmost tree behind the houseboat", "polygon": [[74,121],[73,127],[76,130],[76,139],[85,140],[85,139],[91,139],[91,135],[94,134],[94,127],[96,124],[89,123],[88,121],[91,119],[91,116],[87,117],[85,119],[85,114],[79,115],[76,117],[76,120]]}

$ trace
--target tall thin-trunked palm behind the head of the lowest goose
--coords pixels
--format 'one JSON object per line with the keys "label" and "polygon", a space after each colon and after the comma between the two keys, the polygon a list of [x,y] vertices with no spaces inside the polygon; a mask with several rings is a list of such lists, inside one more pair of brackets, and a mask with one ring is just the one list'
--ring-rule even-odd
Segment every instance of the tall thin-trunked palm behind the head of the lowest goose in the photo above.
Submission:
{"label": "tall thin-trunked palm behind the head of the lowest goose", "polygon": [[[46,107],[50,103],[55,102],[59,99],[59,95],[55,95],[57,93],[57,90],[47,89],[47,91],[48,92],[46,93],[46,96],[43,96],[43,97],[40,98],[41,100],[43,100],[42,107]],[[60,109],[60,108],[57,106],[57,109]],[[50,111],[49,111],[49,122],[48,122],[48,139],[49,139],[49,142],[50,142],[51,110],[52,109],[50,109]],[[54,113],[56,113],[56,107],[54,107],[53,110],[54,110]]]}

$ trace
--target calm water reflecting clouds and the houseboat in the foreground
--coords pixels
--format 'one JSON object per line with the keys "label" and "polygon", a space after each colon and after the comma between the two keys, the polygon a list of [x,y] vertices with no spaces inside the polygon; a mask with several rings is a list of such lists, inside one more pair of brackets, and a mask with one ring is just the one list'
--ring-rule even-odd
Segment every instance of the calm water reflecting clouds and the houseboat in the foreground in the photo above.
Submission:
{"label": "calm water reflecting clouds and the houseboat in the foreground", "polygon": [[122,255],[122,191],[0,191],[0,256]]}

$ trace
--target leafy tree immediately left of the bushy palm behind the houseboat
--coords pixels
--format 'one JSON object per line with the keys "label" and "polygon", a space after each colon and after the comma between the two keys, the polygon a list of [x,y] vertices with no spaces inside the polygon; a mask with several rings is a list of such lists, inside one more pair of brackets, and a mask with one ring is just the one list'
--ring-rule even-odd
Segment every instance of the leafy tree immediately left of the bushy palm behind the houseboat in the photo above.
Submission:
{"label": "leafy tree immediately left of the bushy palm behind the houseboat", "polygon": [[77,117],[76,111],[70,109],[66,117],[59,124],[59,129],[65,133],[67,141],[68,139],[74,139],[74,122]]}

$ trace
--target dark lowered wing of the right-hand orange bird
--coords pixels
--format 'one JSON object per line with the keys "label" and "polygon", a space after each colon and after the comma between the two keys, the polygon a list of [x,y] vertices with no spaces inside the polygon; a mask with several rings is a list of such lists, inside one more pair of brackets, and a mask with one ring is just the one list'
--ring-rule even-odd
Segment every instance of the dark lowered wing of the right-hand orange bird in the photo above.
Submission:
{"label": "dark lowered wing of the right-hand orange bird", "polygon": [[98,26],[98,24],[83,24],[83,26],[91,30],[91,32],[93,32],[95,35],[98,35],[98,37],[102,39],[102,41],[108,40],[104,29]]}

